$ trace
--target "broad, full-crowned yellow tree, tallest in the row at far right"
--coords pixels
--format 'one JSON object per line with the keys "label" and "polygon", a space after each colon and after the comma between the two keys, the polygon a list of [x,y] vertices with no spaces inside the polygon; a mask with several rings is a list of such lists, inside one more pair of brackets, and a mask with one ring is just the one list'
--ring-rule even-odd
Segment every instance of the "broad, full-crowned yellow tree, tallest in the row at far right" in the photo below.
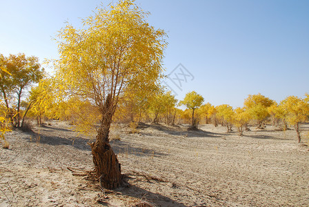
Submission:
{"label": "broad, full-crowned yellow tree, tallest in the row at far right", "polygon": [[257,95],[249,95],[243,105],[250,113],[252,119],[257,120],[257,128],[261,128],[263,121],[269,115],[267,108],[272,106],[273,103],[274,101],[259,93]]}

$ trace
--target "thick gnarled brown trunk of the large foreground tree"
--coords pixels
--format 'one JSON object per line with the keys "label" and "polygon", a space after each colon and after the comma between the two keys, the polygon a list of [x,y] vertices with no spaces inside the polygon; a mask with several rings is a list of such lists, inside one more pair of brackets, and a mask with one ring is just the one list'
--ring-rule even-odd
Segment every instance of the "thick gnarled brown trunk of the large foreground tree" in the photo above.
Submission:
{"label": "thick gnarled brown trunk of the large foreground tree", "polygon": [[110,124],[114,115],[112,96],[108,95],[106,103],[101,108],[103,118],[98,130],[97,139],[90,144],[92,159],[99,177],[100,185],[103,188],[114,189],[121,185],[121,165],[109,144]]}

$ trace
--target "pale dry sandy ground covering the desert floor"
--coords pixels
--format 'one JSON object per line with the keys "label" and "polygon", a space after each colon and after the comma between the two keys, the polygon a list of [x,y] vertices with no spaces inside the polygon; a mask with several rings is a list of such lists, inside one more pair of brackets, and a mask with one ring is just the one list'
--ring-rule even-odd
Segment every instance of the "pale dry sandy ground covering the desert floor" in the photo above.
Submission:
{"label": "pale dry sandy ground covering the desert floor", "polygon": [[119,126],[111,143],[130,185],[112,191],[68,170],[93,168],[89,139],[48,124],[6,136],[0,206],[309,206],[309,151],[294,130]]}

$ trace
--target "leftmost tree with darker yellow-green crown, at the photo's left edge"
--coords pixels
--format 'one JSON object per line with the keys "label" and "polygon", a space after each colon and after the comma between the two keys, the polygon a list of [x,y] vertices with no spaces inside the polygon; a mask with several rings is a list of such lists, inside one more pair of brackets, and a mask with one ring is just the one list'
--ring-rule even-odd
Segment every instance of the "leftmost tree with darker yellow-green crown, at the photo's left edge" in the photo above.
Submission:
{"label": "leftmost tree with darker yellow-green crown, at the photo's left edge", "polygon": [[[2,55],[1,55],[2,56]],[[10,108],[9,99],[15,97],[17,99],[16,105],[16,120],[14,126],[20,127],[21,124],[21,97],[24,90],[26,90],[32,83],[38,83],[43,78],[44,69],[41,69],[39,59],[37,57],[26,57],[25,54],[10,55],[7,58],[1,57],[2,65],[6,71],[10,72],[8,75],[5,71],[1,74],[0,88],[1,96],[3,97],[6,107]],[[12,115],[11,115],[12,118]]]}

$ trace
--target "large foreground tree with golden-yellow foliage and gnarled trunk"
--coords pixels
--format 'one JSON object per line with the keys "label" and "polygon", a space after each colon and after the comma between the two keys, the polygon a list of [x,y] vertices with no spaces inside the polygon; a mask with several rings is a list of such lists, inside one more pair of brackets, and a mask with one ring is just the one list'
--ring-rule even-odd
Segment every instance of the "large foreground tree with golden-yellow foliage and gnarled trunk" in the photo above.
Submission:
{"label": "large foreground tree with golden-yellow foliage and gnarled trunk", "polygon": [[121,167],[109,144],[119,99],[132,88],[153,88],[163,77],[166,33],[150,26],[147,16],[132,1],[119,1],[109,10],[98,8],[83,20],[83,29],[68,25],[59,32],[60,59],[54,61],[59,96],[77,96],[101,115],[96,141],[90,146],[104,188],[121,184]]}

